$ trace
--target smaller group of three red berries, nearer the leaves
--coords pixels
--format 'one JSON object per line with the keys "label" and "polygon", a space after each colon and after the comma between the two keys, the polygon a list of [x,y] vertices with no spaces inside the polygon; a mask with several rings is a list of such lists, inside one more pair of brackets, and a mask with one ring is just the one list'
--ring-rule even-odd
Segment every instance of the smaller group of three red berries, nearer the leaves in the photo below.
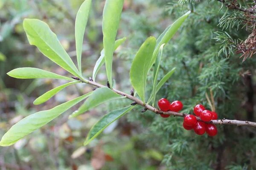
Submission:
{"label": "smaller group of three red berries, nearer the leaves", "polygon": [[[172,103],[169,102],[167,99],[160,99],[158,100],[158,107],[160,108],[161,111],[175,111],[178,112],[183,108],[182,102],[176,100]],[[170,115],[169,114],[160,114],[163,118],[167,118]]]}

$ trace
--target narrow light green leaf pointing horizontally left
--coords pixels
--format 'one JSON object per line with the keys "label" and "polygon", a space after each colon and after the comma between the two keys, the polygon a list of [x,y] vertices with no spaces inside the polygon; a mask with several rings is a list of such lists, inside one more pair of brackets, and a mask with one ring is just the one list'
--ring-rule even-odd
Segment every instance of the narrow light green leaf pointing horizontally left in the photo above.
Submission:
{"label": "narrow light green leaf pointing horizontally left", "polygon": [[36,78],[49,78],[49,79],[65,79],[74,81],[69,77],[64,77],[49,71],[45,71],[39,68],[23,67],[15,68],[7,73],[9,76],[17,79],[36,79]]}

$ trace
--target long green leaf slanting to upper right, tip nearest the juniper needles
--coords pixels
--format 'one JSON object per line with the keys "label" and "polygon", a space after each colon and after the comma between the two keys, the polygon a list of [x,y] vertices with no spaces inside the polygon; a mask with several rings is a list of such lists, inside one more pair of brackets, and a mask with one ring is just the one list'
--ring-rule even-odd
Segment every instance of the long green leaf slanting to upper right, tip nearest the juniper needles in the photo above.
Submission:
{"label": "long green leaf slanting to upper right, tip nearest the juniper needles", "polygon": [[163,33],[157,38],[157,45],[156,48],[154,50],[154,54],[153,57],[151,59],[151,65],[154,64],[156,57],[157,57],[157,53],[158,50],[160,48],[160,46],[162,44],[167,44],[167,42],[169,42],[169,40],[171,40],[171,38],[174,36],[174,34],[178,31],[178,29],[180,28],[180,26],[182,25],[182,23],[186,20],[186,18],[189,16],[191,11],[186,12],[186,14],[183,14],[179,19],[177,19],[174,23],[172,23],[172,25],[170,25],[169,27],[167,27]]}

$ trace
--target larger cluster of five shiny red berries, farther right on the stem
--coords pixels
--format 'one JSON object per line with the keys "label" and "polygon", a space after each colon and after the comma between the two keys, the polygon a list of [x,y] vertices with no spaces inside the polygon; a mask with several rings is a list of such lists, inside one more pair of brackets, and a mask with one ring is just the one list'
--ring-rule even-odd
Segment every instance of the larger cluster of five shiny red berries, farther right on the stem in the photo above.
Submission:
{"label": "larger cluster of five shiny red berries, farther right on the stem", "polygon": [[209,136],[217,135],[217,127],[215,125],[205,123],[211,120],[217,120],[218,114],[216,112],[206,110],[203,105],[196,105],[194,107],[194,113],[196,116],[199,116],[204,122],[198,121],[194,115],[188,114],[184,117],[184,129],[194,129],[195,133],[198,135],[203,135],[205,132]]}

